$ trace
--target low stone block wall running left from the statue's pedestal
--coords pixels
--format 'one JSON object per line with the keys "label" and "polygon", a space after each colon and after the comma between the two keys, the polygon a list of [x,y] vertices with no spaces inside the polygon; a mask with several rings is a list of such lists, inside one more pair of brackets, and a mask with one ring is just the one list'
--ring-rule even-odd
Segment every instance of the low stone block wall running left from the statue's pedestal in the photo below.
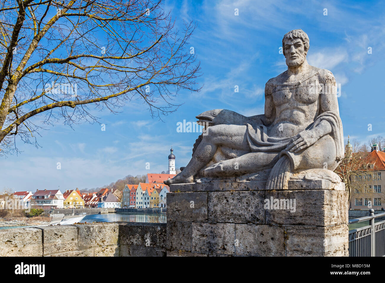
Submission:
{"label": "low stone block wall running left from the statue's pedestal", "polygon": [[3,229],[0,256],[166,256],[166,224],[112,222]]}

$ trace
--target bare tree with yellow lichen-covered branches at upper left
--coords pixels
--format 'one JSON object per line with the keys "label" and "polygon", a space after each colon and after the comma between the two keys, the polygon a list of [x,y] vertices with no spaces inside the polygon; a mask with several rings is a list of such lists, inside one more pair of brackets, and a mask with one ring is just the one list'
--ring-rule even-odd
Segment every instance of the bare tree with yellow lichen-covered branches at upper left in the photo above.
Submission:
{"label": "bare tree with yellow lichen-covered branches at upper left", "polygon": [[180,90],[199,91],[187,46],[160,0],[1,0],[0,153],[59,121],[98,122],[139,100],[161,119]]}

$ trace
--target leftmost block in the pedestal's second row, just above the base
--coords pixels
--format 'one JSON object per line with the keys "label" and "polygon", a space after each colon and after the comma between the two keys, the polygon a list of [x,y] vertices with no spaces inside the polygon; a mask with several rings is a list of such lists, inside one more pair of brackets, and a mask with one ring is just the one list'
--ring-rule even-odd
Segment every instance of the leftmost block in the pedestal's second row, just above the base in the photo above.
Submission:
{"label": "leftmost block in the pedestal's second row, just above the base", "polygon": [[192,223],[167,221],[167,250],[191,251]]}

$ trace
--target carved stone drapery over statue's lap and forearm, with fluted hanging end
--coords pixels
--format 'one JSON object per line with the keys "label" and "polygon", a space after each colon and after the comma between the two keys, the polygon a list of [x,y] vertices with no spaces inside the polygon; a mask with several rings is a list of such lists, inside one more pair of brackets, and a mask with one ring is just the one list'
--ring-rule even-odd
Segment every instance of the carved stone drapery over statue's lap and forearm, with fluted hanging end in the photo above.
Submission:
{"label": "carved stone drapery over statue's lap and forearm, with fluted hanging end", "polygon": [[[328,134],[334,141],[336,149],[335,161],[340,161],[343,156],[343,131],[340,117],[333,111],[326,111],[316,117],[306,130],[311,130],[316,127],[321,121],[328,121],[331,126],[331,132]],[[267,127],[264,125],[251,126],[246,124],[246,136],[248,144],[253,152],[277,152],[280,159],[271,169],[269,179],[266,183],[266,189],[284,189],[287,187],[290,178],[290,172],[296,171],[301,160],[303,151],[295,154],[294,152],[286,151],[286,147],[292,142],[293,137],[279,138],[269,137]],[[327,146],[325,144],[325,146]],[[311,146],[307,149],[311,151]],[[317,152],[314,152],[317,155]],[[320,164],[322,168],[322,163]],[[310,169],[310,168],[309,168]],[[334,169],[333,169],[334,170]]]}

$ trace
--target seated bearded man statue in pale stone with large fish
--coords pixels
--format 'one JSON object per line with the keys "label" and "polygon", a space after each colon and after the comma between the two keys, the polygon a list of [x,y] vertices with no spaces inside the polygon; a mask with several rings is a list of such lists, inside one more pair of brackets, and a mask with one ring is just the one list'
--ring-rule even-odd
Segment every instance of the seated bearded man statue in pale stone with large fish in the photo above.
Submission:
{"label": "seated bearded man statue in pale stone with large fish", "polygon": [[336,168],[343,157],[343,132],[335,78],[308,64],[309,38],[303,30],[286,33],[282,47],[288,69],[266,83],[264,114],[245,117],[215,109],[198,115],[204,134],[191,161],[165,184],[271,169],[266,189],[284,189],[292,173]]}

